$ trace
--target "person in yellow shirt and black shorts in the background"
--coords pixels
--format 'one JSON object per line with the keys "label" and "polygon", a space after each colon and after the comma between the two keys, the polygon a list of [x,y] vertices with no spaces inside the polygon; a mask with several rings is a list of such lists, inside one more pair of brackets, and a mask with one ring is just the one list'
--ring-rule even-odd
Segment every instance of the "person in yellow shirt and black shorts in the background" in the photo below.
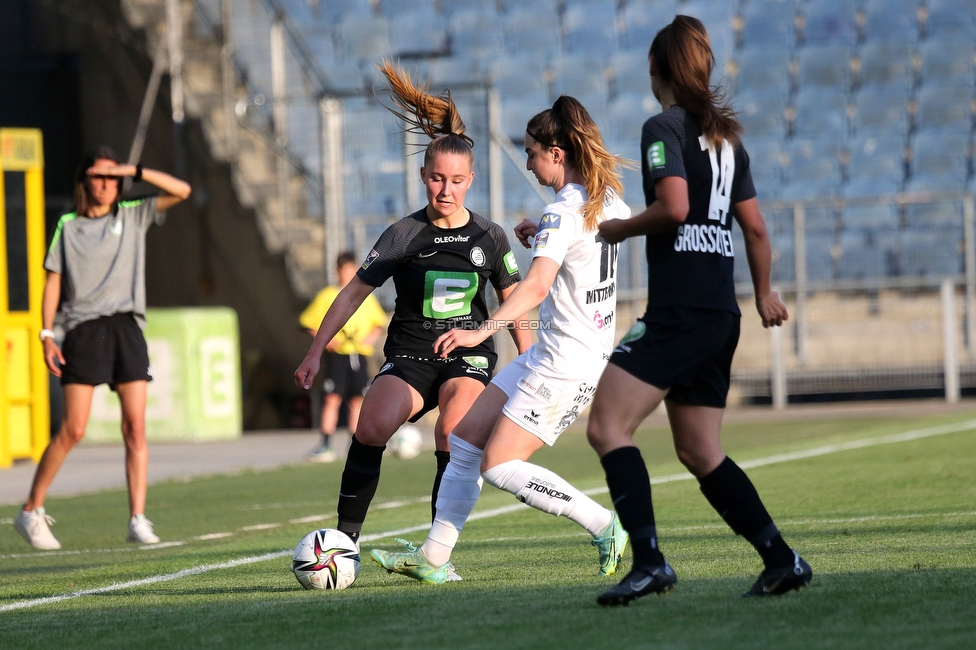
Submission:
{"label": "person in yellow shirt and black shorts in the background", "polygon": [[[339,253],[336,258],[337,285],[325,287],[309,303],[298,319],[313,337],[318,333],[322,319],[332,307],[336,296],[356,277],[359,265],[352,251]],[[331,463],[336,459],[332,448],[332,435],[339,424],[339,408],[346,404],[346,422],[349,433],[356,434],[359,409],[369,387],[369,369],[366,359],[373,354],[373,344],[383,334],[386,312],[376,296],[366,296],[356,312],[346,321],[339,333],[325,346],[325,377],[322,381],[322,418],[319,445],[308,455],[313,463]]]}

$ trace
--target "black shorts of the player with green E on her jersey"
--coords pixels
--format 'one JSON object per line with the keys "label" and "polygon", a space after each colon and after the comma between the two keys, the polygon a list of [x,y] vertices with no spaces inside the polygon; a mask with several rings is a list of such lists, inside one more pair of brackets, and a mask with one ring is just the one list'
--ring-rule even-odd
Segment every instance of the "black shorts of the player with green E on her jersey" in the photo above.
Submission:
{"label": "black shorts of the player with green E on her jersey", "polygon": [[376,374],[393,375],[412,386],[424,398],[424,406],[410,418],[416,422],[425,413],[437,408],[437,394],[441,386],[455,377],[470,377],[487,386],[495,372],[498,356],[494,353],[476,353],[461,357],[423,358],[410,355],[393,355]]}

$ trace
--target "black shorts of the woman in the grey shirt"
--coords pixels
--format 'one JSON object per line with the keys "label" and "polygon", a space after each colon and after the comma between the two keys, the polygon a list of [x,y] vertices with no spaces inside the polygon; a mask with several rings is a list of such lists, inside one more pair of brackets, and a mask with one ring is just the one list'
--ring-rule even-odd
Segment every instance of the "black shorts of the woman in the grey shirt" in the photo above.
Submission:
{"label": "black shorts of the woman in the grey shirt", "polygon": [[132,314],[113,314],[86,321],[64,337],[65,365],[61,385],[98,386],[128,381],[152,381],[149,349],[142,328]]}

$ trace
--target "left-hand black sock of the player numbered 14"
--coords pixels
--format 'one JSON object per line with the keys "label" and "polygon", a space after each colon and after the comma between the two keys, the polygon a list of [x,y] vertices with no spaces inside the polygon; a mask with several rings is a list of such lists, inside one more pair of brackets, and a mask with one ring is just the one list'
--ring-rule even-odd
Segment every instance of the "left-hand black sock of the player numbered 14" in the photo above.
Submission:
{"label": "left-hand black sock of the player numbered 14", "polygon": [[637,447],[614,449],[600,459],[607,474],[613,507],[630,534],[635,566],[660,566],[664,555],[657,545],[651,479]]}

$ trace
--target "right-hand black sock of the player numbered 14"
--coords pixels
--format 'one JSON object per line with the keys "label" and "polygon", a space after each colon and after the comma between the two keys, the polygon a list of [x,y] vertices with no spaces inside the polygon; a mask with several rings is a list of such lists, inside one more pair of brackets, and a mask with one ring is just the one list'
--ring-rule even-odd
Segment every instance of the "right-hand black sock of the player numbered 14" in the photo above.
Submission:
{"label": "right-hand black sock of the player numbered 14", "polygon": [[793,566],[793,551],[783,541],[773,518],[746,473],[728,456],[698,480],[702,494],[736,535],[752,544],[767,568]]}

